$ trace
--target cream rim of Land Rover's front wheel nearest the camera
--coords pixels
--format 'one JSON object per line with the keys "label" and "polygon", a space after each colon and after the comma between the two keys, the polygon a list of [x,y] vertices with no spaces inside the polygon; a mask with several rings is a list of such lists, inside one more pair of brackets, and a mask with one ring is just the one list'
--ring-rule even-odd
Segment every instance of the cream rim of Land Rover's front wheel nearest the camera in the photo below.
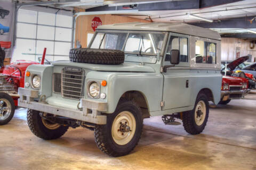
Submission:
{"label": "cream rim of Land Rover's front wheel nearest the camera", "polygon": [[112,138],[118,145],[129,143],[136,130],[136,120],[129,111],[119,113],[112,124]]}

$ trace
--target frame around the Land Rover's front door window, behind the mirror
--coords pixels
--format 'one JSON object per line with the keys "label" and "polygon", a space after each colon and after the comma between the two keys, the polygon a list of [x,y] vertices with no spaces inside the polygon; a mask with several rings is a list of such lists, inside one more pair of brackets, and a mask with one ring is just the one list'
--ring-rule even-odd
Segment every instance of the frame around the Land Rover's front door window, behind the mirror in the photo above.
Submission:
{"label": "frame around the Land Rover's front door window, behind the mirror", "polygon": [[[169,37],[168,37],[168,40],[167,40],[167,43],[166,43],[166,48],[165,48],[165,52],[164,52],[164,57],[163,57],[163,66],[164,65],[171,65],[170,61],[165,61],[165,57],[166,57],[166,53],[168,51],[168,46],[169,46],[169,43],[170,43],[170,39],[171,37],[181,37],[181,38],[187,38],[188,41],[187,41],[187,50],[188,50],[188,62],[180,62],[179,64],[175,65],[177,67],[188,67],[189,64],[190,64],[190,36],[189,35],[184,35],[184,34],[181,34],[181,33],[174,33],[174,32],[169,32]],[[180,43],[180,42],[179,42]]]}

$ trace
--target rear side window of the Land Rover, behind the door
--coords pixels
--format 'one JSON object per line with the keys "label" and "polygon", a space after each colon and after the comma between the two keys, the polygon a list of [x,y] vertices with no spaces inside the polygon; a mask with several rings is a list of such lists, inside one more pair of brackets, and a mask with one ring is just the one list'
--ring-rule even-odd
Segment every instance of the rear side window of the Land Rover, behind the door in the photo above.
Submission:
{"label": "rear side window of the Land Rover, behind the door", "polygon": [[197,40],[196,63],[216,64],[216,43]]}

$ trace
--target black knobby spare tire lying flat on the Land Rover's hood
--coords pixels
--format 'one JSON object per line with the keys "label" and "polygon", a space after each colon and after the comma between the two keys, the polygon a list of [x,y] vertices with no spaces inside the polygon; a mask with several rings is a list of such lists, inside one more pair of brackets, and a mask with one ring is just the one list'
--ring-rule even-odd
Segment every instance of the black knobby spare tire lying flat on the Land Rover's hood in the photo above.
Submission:
{"label": "black knobby spare tire lying flat on the Land Rover's hood", "polygon": [[115,49],[73,48],[69,61],[90,64],[122,64],[124,52]]}

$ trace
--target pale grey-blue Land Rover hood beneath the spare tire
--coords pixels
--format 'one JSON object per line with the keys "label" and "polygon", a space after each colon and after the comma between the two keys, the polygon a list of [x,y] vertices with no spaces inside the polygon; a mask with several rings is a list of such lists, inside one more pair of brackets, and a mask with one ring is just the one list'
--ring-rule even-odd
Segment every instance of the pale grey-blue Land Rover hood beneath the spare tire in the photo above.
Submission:
{"label": "pale grey-blue Land Rover hood beneath the spare tire", "polygon": [[88,63],[74,63],[74,62],[53,62],[52,65],[73,66],[90,69],[94,71],[120,71],[120,72],[155,72],[153,67],[147,65],[139,65],[123,63],[118,65],[105,64],[88,64]]}

